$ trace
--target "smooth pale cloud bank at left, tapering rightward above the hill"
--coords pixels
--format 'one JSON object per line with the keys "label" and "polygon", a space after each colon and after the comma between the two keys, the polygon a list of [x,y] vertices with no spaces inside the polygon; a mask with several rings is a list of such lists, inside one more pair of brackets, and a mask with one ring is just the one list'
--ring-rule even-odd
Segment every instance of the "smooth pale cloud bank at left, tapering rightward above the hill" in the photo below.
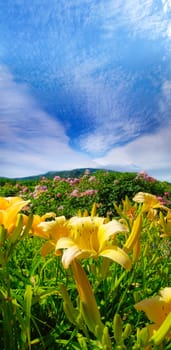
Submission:
{"label": "smooth pale cloud bank at left, tapering rightward above the hill", "polygon": [[63,125],[44,112],[25,85],[0,68],[0,176],[18,177],[96,164],[69,147]]}

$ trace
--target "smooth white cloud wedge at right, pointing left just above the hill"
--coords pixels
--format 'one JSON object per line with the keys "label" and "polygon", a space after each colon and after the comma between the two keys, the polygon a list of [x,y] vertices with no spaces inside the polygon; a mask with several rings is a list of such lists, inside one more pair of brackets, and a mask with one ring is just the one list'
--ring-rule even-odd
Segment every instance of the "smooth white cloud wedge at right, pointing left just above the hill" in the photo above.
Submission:
{"label": "smooth white cloud wedge at right, pointing left just above the hill", "polygon": [[171,125],[163,127],[155,134],[139,137],[122,147],[115,147],[106,156],[94,159],[101,166],[130,171],[145,170],[149,174],[162,173],[171,181]]}

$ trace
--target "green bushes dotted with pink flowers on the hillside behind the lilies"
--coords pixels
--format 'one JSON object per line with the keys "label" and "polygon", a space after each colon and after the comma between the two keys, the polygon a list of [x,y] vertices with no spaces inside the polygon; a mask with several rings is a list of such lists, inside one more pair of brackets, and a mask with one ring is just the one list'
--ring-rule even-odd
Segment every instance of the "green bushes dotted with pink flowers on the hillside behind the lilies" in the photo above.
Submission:
{"label": "green bushes dotted with pink flowers on the hillside behind the lilies", "polygon": [[[80,171],[81,172],[81,171]],[[71,174],[80,174],[72,171]],[[67,175],[67,173],[64,173]],[[127,196],[130,200],[139,192],[148,192],[160,196],[161,200],[171,203],[171,184],[157,181],[146,173],[119,173],[114,171],[87,171],[78,177],[61,177],[39,180],[9,180],[1,183],[1,196],[20,196],[31,199],[29,211],[43,215],[55,212],[67,218],[78,210],[86,209],[89,213],[94,202],[98,203],[98,215],[116,216],[114,203],[117,205]]]}

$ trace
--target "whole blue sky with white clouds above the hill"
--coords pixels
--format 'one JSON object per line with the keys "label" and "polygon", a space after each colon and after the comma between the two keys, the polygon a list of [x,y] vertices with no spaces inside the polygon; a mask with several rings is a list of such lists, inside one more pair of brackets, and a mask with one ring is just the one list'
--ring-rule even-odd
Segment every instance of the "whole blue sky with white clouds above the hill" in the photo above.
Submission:
{"label": "whole blue sky with white clouds above the hill", "polygon": [[171,181],[171,0],[0,5],[0,176]]}

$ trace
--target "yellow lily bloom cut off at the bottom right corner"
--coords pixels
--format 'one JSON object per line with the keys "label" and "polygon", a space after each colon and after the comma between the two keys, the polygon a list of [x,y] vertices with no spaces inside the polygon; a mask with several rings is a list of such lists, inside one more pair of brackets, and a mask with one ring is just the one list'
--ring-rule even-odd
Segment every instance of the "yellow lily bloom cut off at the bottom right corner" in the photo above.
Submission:
{"label": "yellow lily bloom cut off at the bottom right corner", "polygon": [[[164,288],[160,291],[160,295],[144,299],[134,307],[136,310],[144,311],[149,320],[153,322],[148,325],[150,336],[152,336],[171,313],[171,287]],[[171,338],[171,332],[168,336]]]}

